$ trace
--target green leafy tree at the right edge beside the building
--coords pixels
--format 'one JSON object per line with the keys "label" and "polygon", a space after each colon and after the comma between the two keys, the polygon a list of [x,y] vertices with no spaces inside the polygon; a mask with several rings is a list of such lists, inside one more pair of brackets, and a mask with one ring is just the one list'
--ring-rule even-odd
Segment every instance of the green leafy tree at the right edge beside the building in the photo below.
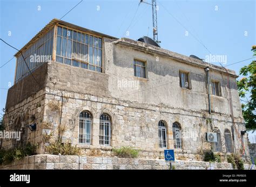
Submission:
{"label": "green leafy tree at the right edge beside the building", "polygon": [[[256,46],[252,46],[253,56],[256,56]],[[244,98],[242,103],[242,116],[245,119],[247,130],[256,130],[256,61],[240,69],[240,75],[244,76],[237,81],[238,93]]]}

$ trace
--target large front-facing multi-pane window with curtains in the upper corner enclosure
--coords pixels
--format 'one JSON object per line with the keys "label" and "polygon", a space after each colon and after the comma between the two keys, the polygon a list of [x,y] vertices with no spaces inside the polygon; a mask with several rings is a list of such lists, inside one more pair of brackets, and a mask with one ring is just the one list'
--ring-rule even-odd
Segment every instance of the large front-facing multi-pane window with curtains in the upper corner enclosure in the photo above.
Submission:
{"label": "large front-facing multi-pane window with curtains in the upper corner enclosure", "polygon": [[56,61],[102,72],[102,38],[58,26]]}

